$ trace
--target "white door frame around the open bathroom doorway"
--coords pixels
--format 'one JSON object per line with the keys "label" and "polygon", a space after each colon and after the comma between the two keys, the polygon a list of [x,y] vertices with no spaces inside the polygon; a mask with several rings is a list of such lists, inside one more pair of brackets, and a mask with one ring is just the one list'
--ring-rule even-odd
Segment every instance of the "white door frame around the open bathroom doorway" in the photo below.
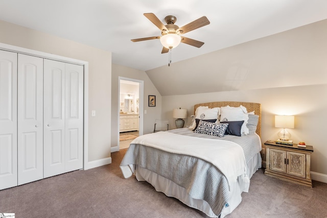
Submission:
{"label": "white door frame around the open bathroom doorway", "polygon": [[[118,107],[117,107],[117,129],[118,129],[118,135],[117,135],[117,148],[119,151],[120,141],[119,141],[119,116],[120,116],[120,93],[121,93],[121,80],[131,81],[138,83],[138,135],[143,135],[143,102],[144,102],[144,81],[143,80],[136,80],[132,78],[127,77],[118,77]],[[111,151],[113,152],[113,151]]]}

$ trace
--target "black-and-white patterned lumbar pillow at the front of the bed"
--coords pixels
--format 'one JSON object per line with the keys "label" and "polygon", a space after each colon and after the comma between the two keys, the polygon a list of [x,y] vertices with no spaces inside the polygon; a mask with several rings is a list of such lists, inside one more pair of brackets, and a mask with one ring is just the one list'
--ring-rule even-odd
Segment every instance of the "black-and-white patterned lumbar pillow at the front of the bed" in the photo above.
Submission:
{"label": "black-and-white patterned lumbar pillow at the front of the bed", "polygon": [[198,128],[194,131],[195,133],[201,133],[206,135],[214,135],[218,137],[223,137],[228,124],[215,124],[204,122],[200,120]]}

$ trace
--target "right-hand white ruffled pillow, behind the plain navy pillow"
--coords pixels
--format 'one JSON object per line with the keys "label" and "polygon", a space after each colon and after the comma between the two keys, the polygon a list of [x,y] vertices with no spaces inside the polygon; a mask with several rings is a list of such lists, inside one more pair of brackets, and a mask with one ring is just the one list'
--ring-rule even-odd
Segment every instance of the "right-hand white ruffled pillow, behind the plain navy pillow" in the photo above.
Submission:
{"label": "right-hand white ruffled pillow, behind the plain navy pillow", "polygon": [[221,107],[220,108],[220,121],[241,121],[244,120],[244,123],[241,127],[241,135],[249,134],[249,129],[246,127],[249,115],[244,106],[240,107]]}

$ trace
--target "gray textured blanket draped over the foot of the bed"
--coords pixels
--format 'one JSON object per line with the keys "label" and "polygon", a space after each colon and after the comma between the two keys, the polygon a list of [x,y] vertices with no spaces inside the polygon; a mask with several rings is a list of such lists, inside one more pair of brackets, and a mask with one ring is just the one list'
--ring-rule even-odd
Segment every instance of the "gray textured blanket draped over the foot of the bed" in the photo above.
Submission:
{"label": "gray textured blanket draped over the foot of the bed", "polygon": [[173,181],[192,198],[206,201],[217,216],[228,201],[227,179],[215,165],[202,159],[130,144],[121,162],[121,166],[127,165],[139,165]]}

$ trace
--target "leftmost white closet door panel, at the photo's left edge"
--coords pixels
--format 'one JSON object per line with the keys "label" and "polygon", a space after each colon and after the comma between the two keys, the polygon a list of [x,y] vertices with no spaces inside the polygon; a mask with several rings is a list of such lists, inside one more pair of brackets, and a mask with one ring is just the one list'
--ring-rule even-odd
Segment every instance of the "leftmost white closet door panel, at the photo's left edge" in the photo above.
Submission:
{"label": "leftmost white closet door panel, at the photo's left edge", "polygon": [[0,50],[0,189],[17,185],[17,53]]}

